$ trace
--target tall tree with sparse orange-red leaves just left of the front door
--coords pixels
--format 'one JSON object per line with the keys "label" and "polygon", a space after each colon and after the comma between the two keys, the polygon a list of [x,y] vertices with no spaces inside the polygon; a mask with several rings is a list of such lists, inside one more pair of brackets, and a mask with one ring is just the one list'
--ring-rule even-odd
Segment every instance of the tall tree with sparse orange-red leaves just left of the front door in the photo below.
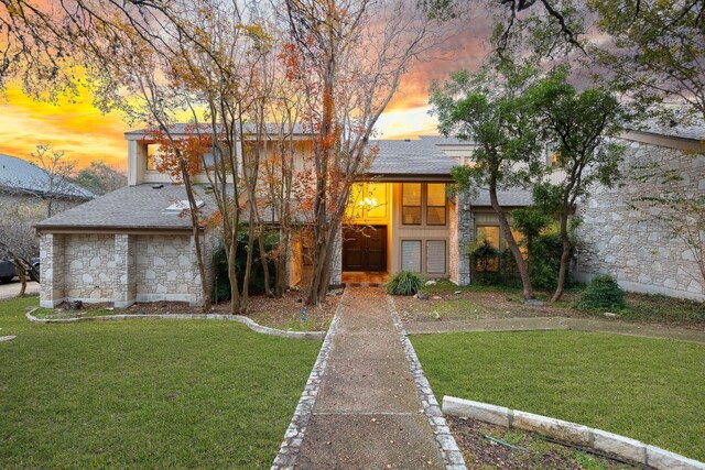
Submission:
{"label": "tall tree with sparse orange-red leaves just left of the front door", "polygon": [[286,76],[315,134],[307,203],[313,233],[313,275],[307,304],[323,299],[330,261],[356,176],[373,152],[368,142],[379,116],[409,65],[433,43],[433,21],[404,1],[288,0],[291,44]]}

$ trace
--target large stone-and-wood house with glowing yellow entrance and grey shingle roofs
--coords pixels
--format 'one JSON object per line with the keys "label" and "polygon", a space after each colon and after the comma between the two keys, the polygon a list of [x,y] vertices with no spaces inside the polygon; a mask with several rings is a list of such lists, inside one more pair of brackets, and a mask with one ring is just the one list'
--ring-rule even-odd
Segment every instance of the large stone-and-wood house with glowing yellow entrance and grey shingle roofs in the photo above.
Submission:
{"label": "large stone-and-wood house with glowing yellow entrance and grey shingle roofs", "polygon": [[[184,127],[176,127],[173,133],[186,135],[187,131]],[[637,153],[639,149],[669,155],[669,152],[685,152],[685,149],[663,146],[673,144],[674,138],[659,135],[630,132],[625,139],[636,145]],[[128,132],[126,139],[127,187],[36,226],[43,260],[41,305],[55,306],[74,299],[107,302],[116,307],[158,300],[200,305],[202,282],[212,285],[212,278],[200,278],[191,219],[181,214],[186,200],[183,186],[172,184],[169,175],[155,170],[154,142],[149,133]],[[652,142],[654,139],[657,143]],[[675,140],[681,147],[692,144]],[[485,237],[502,248],[498,219],[487,194],[480,190],[475,197],[451,196],[446,190],[453,183],[452,167],[471,159],[473,143],[424,136],[381,140],[375,144],[377,157],[351,190],[347,217],[332,261],[332,284],[343,283],[346,274],[388,274],[401,270],[416,271],[426,277],[447,277],[458,285],[469,284],[473,273],[467,249],[475,239]],[[304,155],[312,152],[312,136],[295,129],[294,146],[297,161],[303,162]],[[694,162],[695,173],[688,176],[688,184],[702,192],[705,165],[699,160]],[[550,163],[546,154],[546,164]],[[687,172],[692,170],[687,168]],[[196,179],[205,181],[203,177]],[[213,211],[209,196],[203,189],[197,190],[198,199],[203,201],[202,210],[206,214]],[[641,250],[640,247],[647,244],[644,240],[649,241],[653,234],[644,233],[634,221],[632,229],[640,234],[638,240],[633,239],[631,226],[626,223],[631,216],[627,216],[623,203],[622,206],[615,203],[620,197],[619,192],[598,188],[592,199],[581,203],[578,212],[586,222],[578,233],[577,274],[581,278],[588,278],[608,272],[617,275],[628,288],[647,289],[649,284],[644,275],[657,265],[652,262],[634,266],[630,260],[634,259],[634,250]],[[509,211],[530,205],[531,194],[518,188],[503,190],[499,199]],[[614,223],[608,223],[607,217]],[[204,258],[209,262],[218,243],[217,233],[205,228],[199,228],[199,232],[205,247]],[[617,232],[625,242],[619,242],[619,237],[615,238]],[[665,242],[665,237],[661,233],[653,240],[654,249]],[[290,285],[296,285],[305,282],[308,269],[306,253],[311,250],[311,242],[305,230],[294,234],[291,247],[288,278]],[[657,292],[702,297],[702,284],[686,283],[679,267],[663,269],[669,262],[676,265],[691,263],[683,259],[684,251],[676,251],[659,252],[662,254],[663,273],[658,278],[664,288],[672,284],[671,280],[676,280],[677,288],[665,291],[659,287]],[[676,254],[680,258],[673,258]],[[619,271],[620,265],[628,269]],[[692,263],[687,264],[686,269],[691,267]],[[637,271],[641,272],[637,274]],[[209,269],[207,273],[210,275]],[[631,281],[634,276],[636,282]],[[651,280],[654,278],[651,275]]]}

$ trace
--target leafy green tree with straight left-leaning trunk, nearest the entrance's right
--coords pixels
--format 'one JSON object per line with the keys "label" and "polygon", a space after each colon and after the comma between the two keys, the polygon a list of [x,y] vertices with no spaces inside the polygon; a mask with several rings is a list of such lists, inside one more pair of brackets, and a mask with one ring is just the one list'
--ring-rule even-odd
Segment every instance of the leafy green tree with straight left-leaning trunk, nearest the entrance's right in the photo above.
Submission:
{"label": "leafy green tree with straight left-leaning trunk, nearest the entrance's right", "polygon": [[525,98],[535,77],[532,67],[503,62],[499,68],[486,67],[475,76],[467,72],[453,74],[443,87],[433,85],[430,99],[442,134],[454,134],[478,145],[473,165],[456,166],[453,176],[460,190],[476,189],[476,185],[489,193],[527,299],[534,296],[527,262],[497,193],[510,186],[527,186],[541,174],[543,146],[533,108]]}

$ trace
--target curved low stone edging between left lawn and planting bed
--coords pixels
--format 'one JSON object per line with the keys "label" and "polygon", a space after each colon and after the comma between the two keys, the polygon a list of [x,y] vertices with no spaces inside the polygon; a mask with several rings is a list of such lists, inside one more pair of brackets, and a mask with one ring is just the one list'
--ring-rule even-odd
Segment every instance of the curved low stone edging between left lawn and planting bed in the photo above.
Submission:
{"label": "curved low stone edging between left lawn and planting bed", "polygon": [[76,317],[76,318],[36,318],[32,315],[36,309],[33,308],[25,314],[28,320],[37,324],[70,324],[76,321],[115,321],[115,320],[138,320],[138,319],[161,319],[161,320],[228,320],[237,321],[246,325],[253,331],[262,335],[278,336],[289,339],[302,340],[322,340],[325,331],[285,331],[276,328],[265,327],[257,321],[243,317],[241,315],[221,315],[221,314],[169,314],[169,315],[105,315],[101,317]]}

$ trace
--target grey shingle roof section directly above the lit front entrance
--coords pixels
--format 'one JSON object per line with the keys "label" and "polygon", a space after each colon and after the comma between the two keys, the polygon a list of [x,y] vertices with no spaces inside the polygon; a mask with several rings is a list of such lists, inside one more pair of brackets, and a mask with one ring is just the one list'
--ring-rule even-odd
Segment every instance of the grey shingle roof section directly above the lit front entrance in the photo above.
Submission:
{"label": "grey shingle roof section directly above the lit front entrance", "polygon": [[444,178],[452,181],[451,170],[455,165],[431,140],[380,140],[370,142],[379,153],[367,175],[406,178]]}

